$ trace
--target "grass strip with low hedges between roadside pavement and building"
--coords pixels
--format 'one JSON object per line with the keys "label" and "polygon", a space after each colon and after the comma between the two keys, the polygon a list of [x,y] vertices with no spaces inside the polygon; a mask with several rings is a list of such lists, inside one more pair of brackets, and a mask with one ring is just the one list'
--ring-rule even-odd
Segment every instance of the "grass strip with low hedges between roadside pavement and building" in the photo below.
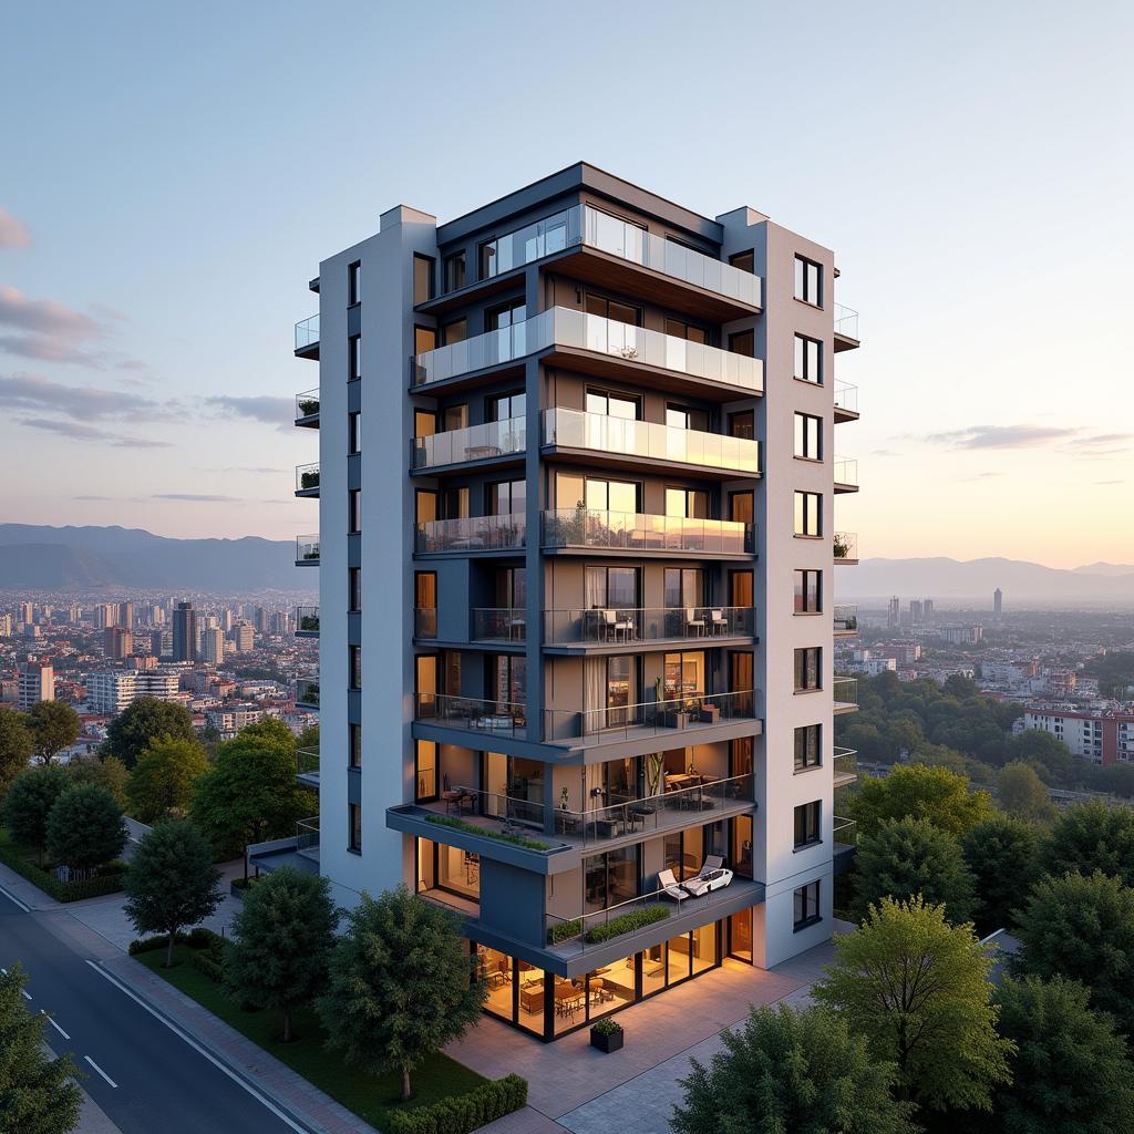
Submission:
{"label": "grass strip with low hedges between roadside pavement and building", "polygon": [[284,1017],[274,1010],[243,1012],[214,980],[210,980],[191,963],[193,950],[187,945],[174,947],[174,967],[162,968],[166,954],[161,950],[135,956],[146,968],[169,981],[174,988],[196,1000],[230,1027],[263,1048],[270,1055],[325,1091],[359,1118],[381,1131],[389,1128],[390,1114],[407,1111],[439,1102],[455,1094],[465,1094],[483,1086],[489,1080],[446,1055],[428,1059],[411,1075],[414,1097],[407,1103],[398,1101],[401,1091],[397,1074],[366,1075],[347,1067],[342,1057],[323,1047],[327,1038],[314,1009],[301,1008],[293,1015],[293,1034],[298,1039],[281,1043]]}

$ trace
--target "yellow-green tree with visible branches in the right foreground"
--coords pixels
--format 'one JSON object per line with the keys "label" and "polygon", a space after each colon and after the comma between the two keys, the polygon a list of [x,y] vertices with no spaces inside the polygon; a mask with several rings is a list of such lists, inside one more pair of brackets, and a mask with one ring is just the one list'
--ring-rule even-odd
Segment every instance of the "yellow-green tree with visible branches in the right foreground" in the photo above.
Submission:
{"label": "yellow-green tree with visible branches in the right foreground", "polygon": [[996,1033],[992,960],[972,929],[921,898],[883,898],[835,951],[812,996],[844,1014],[875,1059],[897,1064],[899,1098],[988,1110],[1014,1049]]}

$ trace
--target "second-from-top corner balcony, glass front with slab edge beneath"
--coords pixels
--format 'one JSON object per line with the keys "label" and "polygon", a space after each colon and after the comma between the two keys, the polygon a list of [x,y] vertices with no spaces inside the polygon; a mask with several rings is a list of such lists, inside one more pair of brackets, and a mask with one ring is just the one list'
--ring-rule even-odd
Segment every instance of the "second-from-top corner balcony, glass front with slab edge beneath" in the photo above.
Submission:
{"label": "second-from-top corner balcony, glass front with slab edge beneath", "polygon": [[518,370],[522,359],[534,354],[615,380],[641,381],[645,375],[660,389],[695,388],[701,397],[721,401],[763,392],[759,358],[572,307],[550,307],[510,327],[426,350],[413,359],[413,386],[488,380],[501,369]]}

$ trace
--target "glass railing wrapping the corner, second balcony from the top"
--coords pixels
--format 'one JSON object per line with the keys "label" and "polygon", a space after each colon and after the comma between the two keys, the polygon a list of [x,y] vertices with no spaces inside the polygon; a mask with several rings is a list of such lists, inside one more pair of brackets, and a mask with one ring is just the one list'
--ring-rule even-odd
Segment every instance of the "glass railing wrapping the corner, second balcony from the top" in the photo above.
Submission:
{"label": "glass railing wrapping the corner, second balcony from the top", "polygon": [[416,356],[414,384],[471,374],[553,345],[675,371],[751,393],[763,390],[763,363],[759,358],[570,307],[551,307],[511,327],[426,350]]}

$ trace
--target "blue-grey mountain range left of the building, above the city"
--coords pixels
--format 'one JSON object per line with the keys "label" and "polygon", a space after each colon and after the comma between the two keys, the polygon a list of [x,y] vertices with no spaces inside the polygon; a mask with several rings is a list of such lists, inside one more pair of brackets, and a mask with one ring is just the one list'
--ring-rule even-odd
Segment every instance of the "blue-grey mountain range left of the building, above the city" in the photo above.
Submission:
{"label": "blue-grey mountain range left of the building, above the city", "polygon": [[223,594],[314,589],[290,540],[172,540],[136,527],[0,524],[0,589],[177,589]]}

